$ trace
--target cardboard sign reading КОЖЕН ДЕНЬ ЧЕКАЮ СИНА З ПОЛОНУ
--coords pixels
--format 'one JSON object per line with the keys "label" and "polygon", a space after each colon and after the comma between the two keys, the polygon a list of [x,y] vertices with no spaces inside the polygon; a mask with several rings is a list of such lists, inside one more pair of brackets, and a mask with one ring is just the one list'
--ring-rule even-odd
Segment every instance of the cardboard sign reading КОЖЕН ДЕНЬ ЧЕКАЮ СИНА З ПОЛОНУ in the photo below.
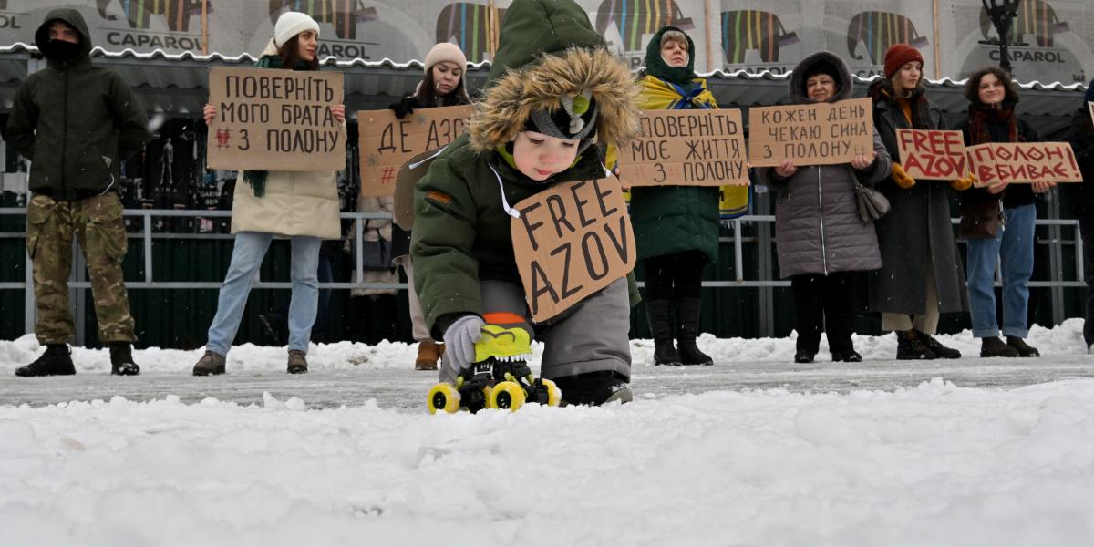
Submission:
{"label": "cardboard sign reading \u041a\u041e\u0416\u0415\u041d \u0414\u0415\u041d\u042c \u0427\u0415\u041a\u0410\u042e \u0421\u0418\u041d\u0410 \u0417 \u041f\u041e\u041b\u041e\u041d\u0423", "polygon": [[748,109],[748,161],[754,167],[835,165],[874,150],[869,97]]}

